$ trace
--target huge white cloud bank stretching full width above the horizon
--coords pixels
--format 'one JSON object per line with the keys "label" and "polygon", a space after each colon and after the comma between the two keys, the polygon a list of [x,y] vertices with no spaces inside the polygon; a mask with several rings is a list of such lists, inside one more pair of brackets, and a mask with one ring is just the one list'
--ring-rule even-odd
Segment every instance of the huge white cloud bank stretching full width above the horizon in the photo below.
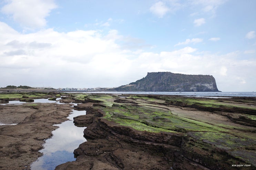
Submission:
{"label": "huge white cloud bank stretching full width above the horizon", "polygon": [[[222,91],[252,91],[255,88],[252,73],[256,60],[239,59],[243,55],[239,51],[224,55],[192,47],[158,53],[132,51],[124,48],[120,41],[143,42],[120,35],[117,30],[111,30],[107,35],[100,30],[60,33],[53,29],[21,34],[2,22],[0,30],[6,33],[0,37],[2,87],[6,84],[55,88],[116,87],[139,80],[147,72],[170,71],[213,75]],[[180,42],[180,45],[202,41],[193,38]]]}

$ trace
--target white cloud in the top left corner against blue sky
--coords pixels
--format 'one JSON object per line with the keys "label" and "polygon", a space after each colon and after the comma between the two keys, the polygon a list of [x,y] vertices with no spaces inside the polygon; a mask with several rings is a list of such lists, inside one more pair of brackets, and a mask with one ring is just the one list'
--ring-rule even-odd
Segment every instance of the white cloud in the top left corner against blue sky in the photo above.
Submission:
{"label": "white cloud in the top left corner against blue sky", "polygon": [[39,28],[47,24],[45,17],[52,9],[57,8],[54,0],[7,0],[1,12],[10,15],[12,19],[23,27]]}

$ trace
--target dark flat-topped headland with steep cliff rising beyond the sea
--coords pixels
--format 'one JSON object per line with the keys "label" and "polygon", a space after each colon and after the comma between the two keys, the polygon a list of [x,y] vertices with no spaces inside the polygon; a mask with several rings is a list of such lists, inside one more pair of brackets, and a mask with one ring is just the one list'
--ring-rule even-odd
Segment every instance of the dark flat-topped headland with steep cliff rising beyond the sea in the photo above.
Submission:
{"label": "dark flat-topped headland with steep cliff rising beyond the sea", "polygon": [[152,72],[141,80],[115,88],[116,91],[142,92],[219,92],[212,75]]}

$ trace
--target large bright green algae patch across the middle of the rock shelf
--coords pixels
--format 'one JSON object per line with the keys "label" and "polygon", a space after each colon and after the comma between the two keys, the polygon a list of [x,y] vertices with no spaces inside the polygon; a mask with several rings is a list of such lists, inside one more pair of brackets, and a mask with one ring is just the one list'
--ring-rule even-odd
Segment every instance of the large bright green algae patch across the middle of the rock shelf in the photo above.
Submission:
{"label": "large bright green algae patch across the middle of the rock shelf", "polygon": [[[161,129],[164,132],[226,132],[227,130],[208,124],[206,122],[191,120],[173,115],[170,110],[162,110],[149,108],[145,106],[124,105],[125,107],[107,107],[103,108],[106,112],[104,117],[107,120],[114,121],[120,125],[130,127],[143,124],[143,130],[146,126],[154,127],[150,131],[159,132]],[[129,121],[128,121],[129,120]],[[158,128],[158,129],[155,129]]]}

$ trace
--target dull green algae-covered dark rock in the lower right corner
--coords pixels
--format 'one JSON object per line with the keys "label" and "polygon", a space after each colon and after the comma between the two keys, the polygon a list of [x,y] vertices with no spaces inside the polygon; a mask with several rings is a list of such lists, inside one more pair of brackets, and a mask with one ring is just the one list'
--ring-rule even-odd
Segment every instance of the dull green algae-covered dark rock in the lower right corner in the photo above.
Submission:
{"label": "dull green algae-covered dark rock in the lower right corner", "polygon": [[203,161],[208,165],[212,164],[209,160],[225,160],[229,165],[255,162],[254,139],[212,132],[189,132],[184,137],[186,138],[182,146],[184,154],[188,157],[204,159]]}

